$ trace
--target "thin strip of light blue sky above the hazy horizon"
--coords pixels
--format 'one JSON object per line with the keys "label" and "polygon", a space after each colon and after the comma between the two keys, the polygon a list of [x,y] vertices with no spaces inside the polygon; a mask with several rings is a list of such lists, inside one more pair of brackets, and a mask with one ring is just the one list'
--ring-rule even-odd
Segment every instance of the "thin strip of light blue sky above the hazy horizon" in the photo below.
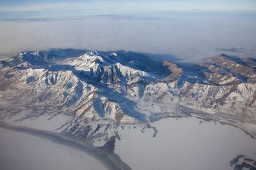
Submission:
{"label": "thin strip of light blue sky above the hazy horizon", "polygon": [[255,0],[0,0],[1,18],[120,14],[143,10],[256,10]]}

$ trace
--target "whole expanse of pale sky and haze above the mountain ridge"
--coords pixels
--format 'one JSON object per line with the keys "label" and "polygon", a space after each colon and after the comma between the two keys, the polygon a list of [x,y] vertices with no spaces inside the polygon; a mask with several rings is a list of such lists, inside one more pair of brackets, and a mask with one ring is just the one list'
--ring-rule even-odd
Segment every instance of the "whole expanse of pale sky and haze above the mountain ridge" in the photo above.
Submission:
{"label": "whole expanse of pale sky and haze above the mountain ridge", "polygon": [[0,0],[0,59],[50,48],[256,58],[255,30],[256,0]]}

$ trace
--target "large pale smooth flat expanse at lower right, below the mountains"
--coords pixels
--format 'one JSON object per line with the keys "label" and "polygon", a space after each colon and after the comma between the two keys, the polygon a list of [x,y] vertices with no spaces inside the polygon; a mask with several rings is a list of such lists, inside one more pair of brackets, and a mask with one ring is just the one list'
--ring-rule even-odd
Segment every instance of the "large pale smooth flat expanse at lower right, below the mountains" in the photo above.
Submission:
{"label": "large pale smooth flat expanse at lower right, below the mountains", "polygon": [[234,169],[229,161],[237,155],[256,159],[256,139],[241,129],[200,119],[166,118],[151,129],[120,129],[115,152],[132,169]]}

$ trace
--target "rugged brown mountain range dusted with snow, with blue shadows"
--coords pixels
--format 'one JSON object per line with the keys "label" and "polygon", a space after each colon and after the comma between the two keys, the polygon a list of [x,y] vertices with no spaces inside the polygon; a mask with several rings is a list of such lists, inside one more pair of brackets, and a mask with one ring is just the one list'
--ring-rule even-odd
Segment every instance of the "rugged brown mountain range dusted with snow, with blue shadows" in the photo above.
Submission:
{"label": "rugged brown mountain range dusted with snow, with blue shadows", "polygon": [[[256,137],[256,60],[217,55],[203,63],[155,62],[126,51],[54,49],[1,62],[0,118],[65,115],[54,131],[93,140],[122,124],[195,116]],[[55,127],[55,126],[54,126]],[[109,130],[112,129],[112,130]]]}

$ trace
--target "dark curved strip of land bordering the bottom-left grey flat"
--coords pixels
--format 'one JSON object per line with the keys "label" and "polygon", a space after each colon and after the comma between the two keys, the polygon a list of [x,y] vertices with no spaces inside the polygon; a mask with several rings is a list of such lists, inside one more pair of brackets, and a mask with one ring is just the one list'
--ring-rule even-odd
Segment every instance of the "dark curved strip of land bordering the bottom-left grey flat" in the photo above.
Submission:
{"label": "dark curved strip of land bordering the bottom-left grey flat", "polygon": [[66,145],[67,147],[80,150],[96,158],[98,161],[103,163],[108,169],[130,169],[130,167],[126,163],[124,163],[118,155],[114,153],[108,153],[105,150],[100,149],[98,147],[87,147],[79,142],[75,142],[73,140],[68,139],[62,134],[43,131],[40,129],[32,129],[29,127],[12,126],[4,121],[0,121],[0,127],[12,131],[23,132],[43,139],[48,139],[53,143]]}

